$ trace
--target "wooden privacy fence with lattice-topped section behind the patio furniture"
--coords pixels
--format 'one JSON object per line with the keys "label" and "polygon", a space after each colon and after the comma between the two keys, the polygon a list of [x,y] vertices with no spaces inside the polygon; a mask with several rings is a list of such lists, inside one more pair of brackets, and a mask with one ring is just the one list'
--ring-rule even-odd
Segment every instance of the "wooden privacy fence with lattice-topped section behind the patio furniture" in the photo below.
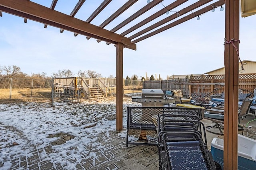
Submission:
{"label": "wooden privacy fence with lattice-topped section behind the patio furniture", "polygon": [[[238,88],[244,93],[252,93],[256,88],[256,74],[239,74]],[[162,90],[182,90],[183,94],[221,94],[224,92],[225,75],[201,75],[173,80],[144,81],[143,88]]]}

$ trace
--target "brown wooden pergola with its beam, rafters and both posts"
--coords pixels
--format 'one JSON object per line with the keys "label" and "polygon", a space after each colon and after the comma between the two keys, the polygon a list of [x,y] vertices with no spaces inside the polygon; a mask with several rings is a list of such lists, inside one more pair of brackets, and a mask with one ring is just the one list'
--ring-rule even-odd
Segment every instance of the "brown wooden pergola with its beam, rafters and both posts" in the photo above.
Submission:
{"label": "brown wooden pergola with its beam, rafters and both posts", "polygon": [[[225,4],[225,111],[224,111],[224,169],[237,169],[238,159],[238,51],[239,51],[239,16],[240,1],[239,0],[198,0],[181,8],[178,12],[168,15],[166,18],[155,21],[152,25],[146,24],[158,19],[166,12],[177,9],[179,6],[186,4],[188,0],[172,0],[167,6],[163,6],[162,10],[154,12],[151,16],[138,23],[130,26],[122,33],[116,33],[119,29],[128,25],[128,23],[138,20],[145,12],[152,10],[154,6],[163,2],[163,0],[144,0],[145,6],[132,14],[126,20],[116,25],[113,29],[104,29],[106,25],[115,20],[123,12],[131,6],[136,6],[138,0],[126,0],[126,3],[109,16],[98,26],[90,22],[100,14],[107,6],[115,6],[110,3],[112,0],[102,0],[103,2],[91,14],[91,16],[83,21],[75,18],[76,13],[80,10],[86,0],[78,0],[76,6],[71,13],[64,14],[54,10],[58,0],[52,0],[49,7],[42,6],[29,0],[0,0],[0,16],[2,12],[13,14],[27,20],[34,20],[47,25],[60,28],[62,33],[68,30],[74,33],[74,36],[85,35],[87,39],[94,38],[98,42],[105,41],[107,45],[114,44],[116,46],[116,130],[122,130],[122,106],[123,106],[123,48],[136,50],[136,43],[145,41],[148,37],[152,37],[162,31],[170,29],[180,23],[197,18],[216,7]],[[256,13],[254,2],[250,0],[241,0],[242,17],[250,16]],[[190,1],[191,2],[191,1]],[[169,2],[166,2],[169,3]],[[86,4],[84,4],[86,5]],[[254,5],[254,6],[253,6]],[[253,7],[252,7],[253,6]],[[192,12],[192,10],[194,12]],[[175,20],[175,21],[172,21]],[[168,23],[168,24],[166,24]],[[141,29],[142,27],[146,27]],[[126,35],[129,35],[126,37]]]}

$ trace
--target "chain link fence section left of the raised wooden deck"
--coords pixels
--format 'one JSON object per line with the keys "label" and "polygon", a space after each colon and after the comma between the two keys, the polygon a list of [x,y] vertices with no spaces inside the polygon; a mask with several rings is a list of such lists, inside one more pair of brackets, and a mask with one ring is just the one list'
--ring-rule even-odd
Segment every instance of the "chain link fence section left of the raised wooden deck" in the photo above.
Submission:
{"label": "chain link fence section left of the raised wooden deck", "polygon": [[0,78],[0,102],[51,102],[51,79]]}

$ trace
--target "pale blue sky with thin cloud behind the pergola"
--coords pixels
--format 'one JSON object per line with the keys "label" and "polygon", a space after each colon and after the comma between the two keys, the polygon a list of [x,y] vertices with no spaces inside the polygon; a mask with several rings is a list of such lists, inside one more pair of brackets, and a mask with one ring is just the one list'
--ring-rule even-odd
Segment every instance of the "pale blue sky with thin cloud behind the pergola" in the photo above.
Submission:
{"label": "pale blue sky with thin cloud behind the pergola", "polygon": [[[47,7],[50,7],[52,3],[52,0],[32,1],[43,3],[42,5]],[[70,14],[77,2],[77,0],[60,0],[55,10]],[[86,0],[75,18],[86,20],[102,2],[103,0]],[[91,23],[100,25],[125,2],[113,0]],[[167,6],[171,2],[174,0],[164,0],[162,3]],[[193,2],[195,1],[188,1],[184,3],[184,6],[172,11],[179,11]],[[146,0],[139,0],[105,28],[114,28],[145,5]],[[225,8],[225,5],[223,7]],[[128,27],[162,8],[163,5],[158,4],[152,11],[146,12],[136,21],[132,21],[118,30],[117,33],[122,33]],[[164,14],[158,20],[171,14],[173,13]],[[43,23],[32,20],[24,23],[23,18],[4,12],[2,15],[0,17],[0,65],[19,66],[21,71],[26,74],[46,72],[47,76],[63,69],[70,69],[75,76],[79,70],[95,70],[103,77],[116,75],[116,48],[114,45],[106,45],[104,41],[98,43],[96,39],[92,38],[87,40],[83,35],[74,37],[70,31],[60,33],[59,28],[49,25],[45,29]],[[255,20],[255,15],[246,18],[240,17],[241,60],[256,61]],[[155,22],[151,21],[146,26]],[[140,30],[143,28],[145,27]],[[127,37],[136,32],[128,34]],[[223,67],[224,36],[225,10],[220,12],[220,7],[218,7],[215,12],[210,11],[200,16],[199,21],[193,18],[136,43],[136,51],[125,48],[123,77],[131,77],[133,74],[145,77],[147,72],[148,76],[157,74],[158,77],[160,74],[161,78],[166,79],[168,75],[172,74],[204,74]]]}

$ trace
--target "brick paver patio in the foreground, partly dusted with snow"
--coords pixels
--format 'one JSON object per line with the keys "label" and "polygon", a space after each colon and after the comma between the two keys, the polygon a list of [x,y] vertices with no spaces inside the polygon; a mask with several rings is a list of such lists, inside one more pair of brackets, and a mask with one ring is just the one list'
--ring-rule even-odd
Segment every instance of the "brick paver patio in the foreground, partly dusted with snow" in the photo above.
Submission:
{"label": "brick paver patio in the foreground, partly dusted with snow", "polygon": [[[0,127],[2,130],[4,128],[6,130],[12,129],[12,131],[17,130],[14,127],[5,126],[4,123],[0,123]],[[20,138],[25,138],[21,132],[18,133]],[[67,141],[64,138],[53,141],[44,147],[40,143],[31,145],[27,139],[26,144],[21,147],[22,152],[26,152],[26,156],[24,154],[9,155],[8,159],[4,161],[11,164],[10,169],[12,170],[68,170],[70,164],[74,165],[72,167],[74,170],[158,169],[158,149],[156,146],[129,145],[126,148],[126,139],[119,137],[118,134],[116,131],[109,132],[108,137],[104,133],[98,134],[95,143],[100,143],[100,148],[94,143],[85,145],[84,152],[77,147],[69,148],[70,150],[63,153],[63,156],[70,157],[66,162],[53,160],[56,158],[55,154],[61,155],[60,152],[63,152],[62,144]],[[65,135],[62,134],[62,136]],[[12,147],[11,144],[8,147]],[[77,153],[76,156],[79,157],[79,160],[72,153]],[[3,162],[0,162],[0,169],[5,170]]]}

